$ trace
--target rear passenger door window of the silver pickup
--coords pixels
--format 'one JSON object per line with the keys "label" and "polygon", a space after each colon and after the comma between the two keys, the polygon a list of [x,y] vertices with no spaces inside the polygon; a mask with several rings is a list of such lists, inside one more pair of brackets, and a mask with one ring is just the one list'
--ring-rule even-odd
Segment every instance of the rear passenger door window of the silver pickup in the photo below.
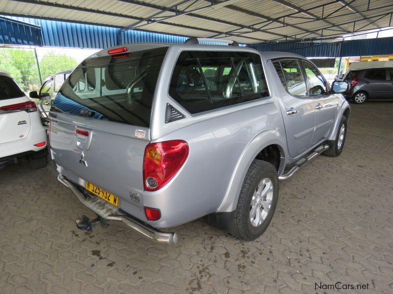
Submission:
{"label": "rear passenger door window of the silver pickup", "polygon": [[307,96],[307,86],[299,61],[296,59],[280,60],[287,91],[294,96]]}

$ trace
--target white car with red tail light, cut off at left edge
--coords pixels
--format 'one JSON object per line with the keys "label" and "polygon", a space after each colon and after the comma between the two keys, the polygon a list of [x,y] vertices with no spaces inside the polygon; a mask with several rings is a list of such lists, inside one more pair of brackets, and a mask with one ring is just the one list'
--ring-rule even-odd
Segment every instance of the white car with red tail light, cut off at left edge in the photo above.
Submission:
{"label": "white car with red tail light, cut off at left edge", "polygon": [[47,137],[37,105],[11,76],[0,71],[0,167],[12,159],[27,157],[28,167],[47,165]]}

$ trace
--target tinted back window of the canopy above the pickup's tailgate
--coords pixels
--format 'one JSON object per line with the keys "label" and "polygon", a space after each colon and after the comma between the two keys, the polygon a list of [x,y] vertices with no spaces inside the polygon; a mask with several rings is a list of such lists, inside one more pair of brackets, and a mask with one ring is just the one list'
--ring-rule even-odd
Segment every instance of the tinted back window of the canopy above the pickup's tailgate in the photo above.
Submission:
{"label": "tinted back window of the canopy above the pickup's tailgate", "polygon": [[84,60],[61,86],[51,111],[149,127],[167,49]]}

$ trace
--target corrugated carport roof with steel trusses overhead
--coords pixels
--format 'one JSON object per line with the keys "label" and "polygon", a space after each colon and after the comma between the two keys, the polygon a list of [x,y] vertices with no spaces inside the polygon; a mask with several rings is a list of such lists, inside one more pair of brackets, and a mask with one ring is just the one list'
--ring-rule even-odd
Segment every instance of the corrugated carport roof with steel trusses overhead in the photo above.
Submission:
{"label": "corrugated carport roof with steel trusses overhead", "polygon": [[[391,0],[1,0],[4,15],[256,44],[392,25]],[[119,33],[120,33],[119,32]]]}

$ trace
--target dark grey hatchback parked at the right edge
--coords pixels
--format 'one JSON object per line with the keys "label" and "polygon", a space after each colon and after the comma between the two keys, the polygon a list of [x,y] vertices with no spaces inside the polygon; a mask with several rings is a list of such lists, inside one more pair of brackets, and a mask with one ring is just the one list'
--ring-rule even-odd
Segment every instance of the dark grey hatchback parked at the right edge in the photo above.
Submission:
{"label": "dark grey hatchback parked at the right edge", "polygon": [[343,80],[350,83],[345,97],[356,104],[367,99],[393,99],[393,68],[350,70]]}

